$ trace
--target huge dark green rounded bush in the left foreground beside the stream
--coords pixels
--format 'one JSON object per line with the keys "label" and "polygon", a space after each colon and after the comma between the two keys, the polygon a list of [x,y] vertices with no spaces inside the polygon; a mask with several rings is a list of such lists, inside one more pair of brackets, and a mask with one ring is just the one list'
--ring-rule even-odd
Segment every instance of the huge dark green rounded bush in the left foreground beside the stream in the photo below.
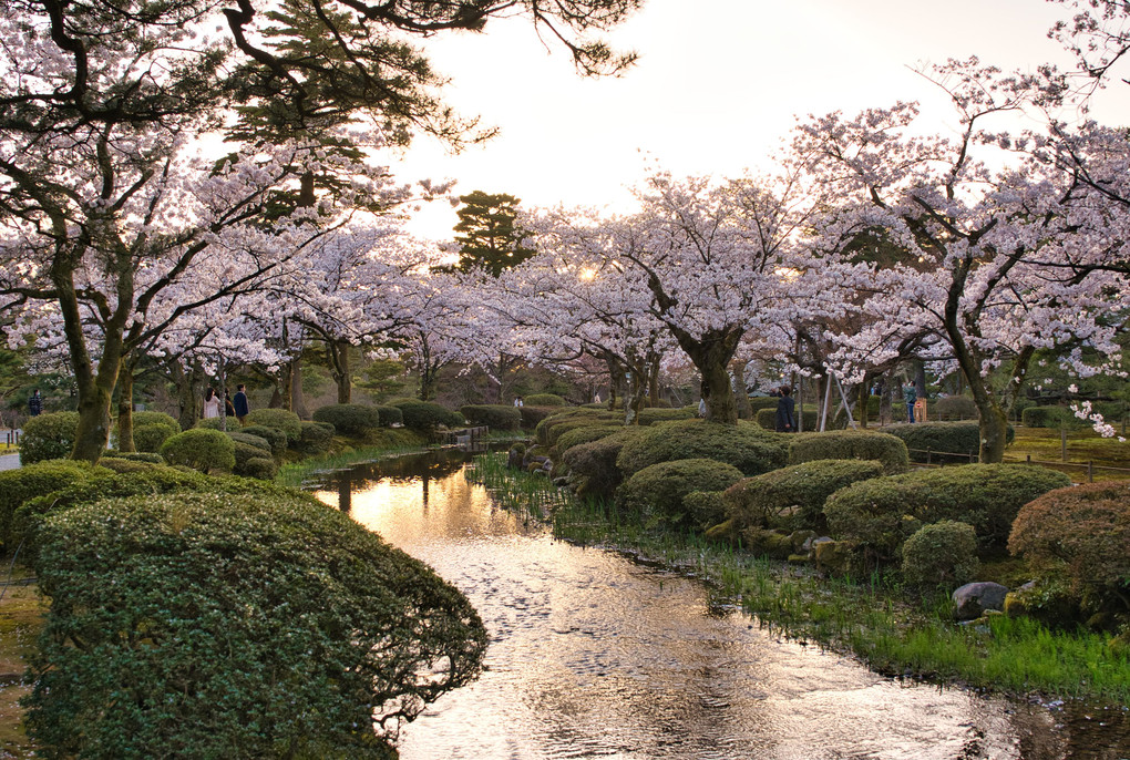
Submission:
{"label": "huge dark green rounded bush in the left foreground beside the stream", "polygon": [[101,501],[41,536],[26,722],[51,757],[389,758],[374,720],[481,670],[468,600],[310,496]]}

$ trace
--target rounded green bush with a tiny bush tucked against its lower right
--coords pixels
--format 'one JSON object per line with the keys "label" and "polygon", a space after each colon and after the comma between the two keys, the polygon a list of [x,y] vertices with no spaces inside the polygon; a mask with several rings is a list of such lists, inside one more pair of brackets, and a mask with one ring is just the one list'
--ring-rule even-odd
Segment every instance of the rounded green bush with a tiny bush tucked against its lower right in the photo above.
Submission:
{"label": "rounded green bush with a tiny bush tucked against its lower right", "polygon": [[704,528],[709,525],[697,522],[701,515],[689,514],[683,503],[686,496],[693,491],[723,491],[739,480],[741,471],[724,462],[704,458],[660,462],[625,480],[617,500],[624,508],[637,512],[649,524]]}

